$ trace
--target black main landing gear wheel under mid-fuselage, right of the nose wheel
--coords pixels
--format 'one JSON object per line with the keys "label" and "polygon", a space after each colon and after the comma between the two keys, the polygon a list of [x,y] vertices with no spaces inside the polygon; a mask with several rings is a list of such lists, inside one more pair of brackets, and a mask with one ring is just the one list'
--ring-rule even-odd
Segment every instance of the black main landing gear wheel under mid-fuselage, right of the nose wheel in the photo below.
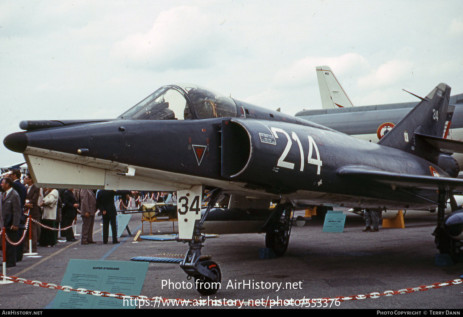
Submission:
{"label": "black main landing gear wheel under mid-fuselage, right of the nose wheel", "polygon": [[289,236],[291,235],[291,225],[293,222],[293,208],[292,204],[288,204],[284,209],[281,219],[276,224],[269,226],[265,234],[265,247],[268,247],[275,252],[276,256],[282,256],[288,249]]}

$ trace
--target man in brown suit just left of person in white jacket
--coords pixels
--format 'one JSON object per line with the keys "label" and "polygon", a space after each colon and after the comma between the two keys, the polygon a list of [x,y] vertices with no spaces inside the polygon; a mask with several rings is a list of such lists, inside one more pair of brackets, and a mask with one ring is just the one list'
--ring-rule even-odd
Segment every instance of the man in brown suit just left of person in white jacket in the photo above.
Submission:
{"label": "man in brown suit just left of person in white jacket", "polygon": [[[38,197],[40,196],[40,188],[34,185],[31,174],[27,173],[24,178],[24,184],[27,185],[27,195],[24,204],[25,210],[29,210],[29,215],[32,219],[40,220],[40,211],[38,209]],[[37,252],[37,224],[33,221],[29,223],[29,230],[31,230],[32,252]],[[24,241],[24,252],[29,252],[29,237],[26,236]]]}

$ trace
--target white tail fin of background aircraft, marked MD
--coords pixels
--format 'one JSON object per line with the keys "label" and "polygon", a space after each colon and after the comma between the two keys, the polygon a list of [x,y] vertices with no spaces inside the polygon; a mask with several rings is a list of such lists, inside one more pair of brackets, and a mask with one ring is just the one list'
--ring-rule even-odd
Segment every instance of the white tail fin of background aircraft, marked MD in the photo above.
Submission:
{"label": "white tail fin of background aircraft, marked MD", "polygon": [[321,105],[323,109],[353,107],[349,97],[328,66],[317,66]]}

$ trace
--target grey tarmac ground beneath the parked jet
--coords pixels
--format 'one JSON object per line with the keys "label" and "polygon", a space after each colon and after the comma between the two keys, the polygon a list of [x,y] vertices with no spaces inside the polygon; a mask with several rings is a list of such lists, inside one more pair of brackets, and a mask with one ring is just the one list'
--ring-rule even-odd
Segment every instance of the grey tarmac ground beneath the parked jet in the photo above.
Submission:
{"label": "grey tarmac ground beneath the parked jet", "polygon": [[[119,238],[122,243],[104,245],[101,237],[101,218],[96,217],[94,241],[98,241],[97,244],[81,245],[78,240],[60,242],[55,247],[38,247],[38,253],[42,257],[24,256],[15,267],[7,268],[6,275],[61,285],[70,259],[129,261],[134,256],[186,253],[188,245],[176,241],[143,240],[134,243],[133,238],[138,229],[141,229],[140,218],[139,214],[131,217],[129,228],[132,236],[124,231]],[[436,221],[435,216],[423,216],[405,219],[404,229],[380,226],[379,232],[362,232],[363,219],[348,213],[343,233],[324,233],[321,221],[307,220],[303,227],[293,226],[286,254],[275,259],[260,259],[258,256],[259,248],[265,247],[264,234],[221,235],[219,238],[207,239],[202,254],[212,255],[222,273],[221,289],[209,299],[220,299],[222,303],[230,299],[251,299],[259,303],[261,299],[277,301],[291,298],[294,300],[335,298],[397,291],[461,279],[462,263],[453,266],[434,264],[434,256],[438,251],[431,234]],[[77,233],[80,233],[81,224],[79,217],[76,225]],[[153,234],[170,234],[173,230],[172,222],[153,223],[152,228]],[[149,234],[149,231],[150,225],[145,222],[144,234]],[[80,236],[76,238],[79,239]],[[192,289],[187,287],[169,289],[168,286],[163,286],[166,284],[165,281],[170,281],[174,283],[173,285],[178,282],[177,286],[183,281],[188,282],[186,274],[178,264],[150,263],[141,295],[149,298],[155,296],[182,299],[206,298],[200,296],[194,286]],[[242,284],[235,284],[235,282]],[[23,283],[0,285],[0,290],[0,309],[50,308],[56,293],[63,292]],[[285,306],[283,302],[281,303],[282,305],[277,307],[301,308],[302,306],[306,309],[315,309],[307,307],[307,305],[315,305],[322,306],[322,309],[461,310],[463,283],[393,296],[382,295],[378,298],[328,302],[327,305],[325,302],[298,306]],[[228,308],[225,304],[219,307],[206,305],[200,308],[225,307]],[[258,305],[254,306],[256,307],[270,309]],[[247,307],[241,307],[244,308]]]}

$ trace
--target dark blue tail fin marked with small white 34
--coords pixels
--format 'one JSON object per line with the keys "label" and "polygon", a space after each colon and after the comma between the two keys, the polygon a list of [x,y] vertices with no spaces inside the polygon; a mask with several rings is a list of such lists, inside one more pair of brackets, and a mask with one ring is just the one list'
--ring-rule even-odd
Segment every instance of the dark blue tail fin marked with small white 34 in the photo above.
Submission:
{"label": "dark blue tail fin marked with small white 34", "polygon": [[449,108],[450,86],[440,83],[395,125],[378,144],[433,160],[436,146],[429,137],[444,142],[445,125],[451,120],[454,107]]}

